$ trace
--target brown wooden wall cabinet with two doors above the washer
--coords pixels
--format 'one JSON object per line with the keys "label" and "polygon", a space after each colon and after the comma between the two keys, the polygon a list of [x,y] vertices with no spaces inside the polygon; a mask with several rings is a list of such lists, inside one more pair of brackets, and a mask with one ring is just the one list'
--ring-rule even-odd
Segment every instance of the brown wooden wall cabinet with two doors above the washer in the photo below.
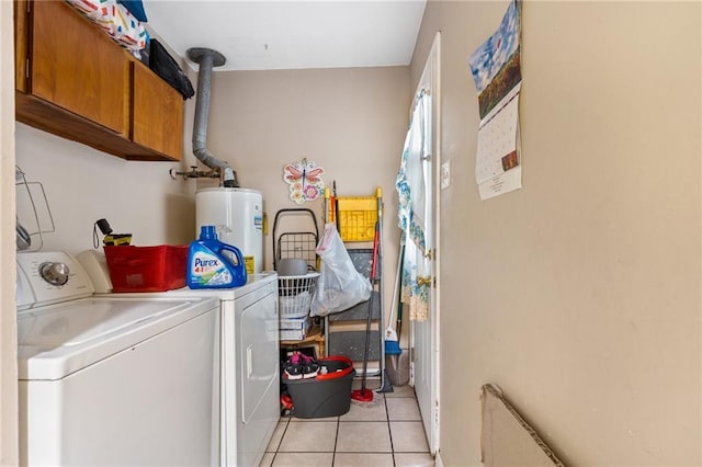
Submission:
{"label": "brown wooden wall cabinet with two doors above the washer", "polygon": [[128,160],[181,159],[178,91],[68,3],[14,7],[18,121]]}

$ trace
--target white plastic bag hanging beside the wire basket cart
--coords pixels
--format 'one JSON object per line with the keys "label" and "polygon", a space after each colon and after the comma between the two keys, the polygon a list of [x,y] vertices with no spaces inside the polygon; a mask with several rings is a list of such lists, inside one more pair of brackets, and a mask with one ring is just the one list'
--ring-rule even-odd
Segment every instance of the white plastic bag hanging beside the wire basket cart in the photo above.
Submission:
{"label": "white plastic bag hanging beside the wire basket cart", "polygon": [[337,227],[325,225],[317,246],[321,259],[317,291],[312,300],[312,316],[343,311],[371,297],[371,282],[353,266]]}

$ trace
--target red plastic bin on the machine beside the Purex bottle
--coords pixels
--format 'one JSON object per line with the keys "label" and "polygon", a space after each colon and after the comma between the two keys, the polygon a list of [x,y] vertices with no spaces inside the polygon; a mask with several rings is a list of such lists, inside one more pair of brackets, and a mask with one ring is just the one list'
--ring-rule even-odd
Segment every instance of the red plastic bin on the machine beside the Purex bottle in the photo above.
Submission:
{"label": "red plastic bin on the machine beside the Purex bottle", "polygon": [[104,247],[112,292],[163,292],[186,284],[188,246]]}

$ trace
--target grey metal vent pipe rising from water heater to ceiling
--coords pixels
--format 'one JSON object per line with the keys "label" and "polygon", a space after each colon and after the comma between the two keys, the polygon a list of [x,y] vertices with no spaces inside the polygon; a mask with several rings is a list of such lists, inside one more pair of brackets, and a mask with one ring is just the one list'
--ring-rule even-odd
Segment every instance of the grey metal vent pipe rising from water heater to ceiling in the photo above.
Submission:
{"label": "grey metal vent pipe rising from water heater to ceiling", "polygon": [[236,172],[229,164],[213,156],[206,147],[207,122],[210,118],[210,94],[212,91],[212,69],[220,67],[227,59],[211,48],[189,48],[188,58],[200,65],[197,72],[197,98],[195,100],[195,118],[193,123],[193,153],[211,169],[219,169],[220,184],[238,187]]}

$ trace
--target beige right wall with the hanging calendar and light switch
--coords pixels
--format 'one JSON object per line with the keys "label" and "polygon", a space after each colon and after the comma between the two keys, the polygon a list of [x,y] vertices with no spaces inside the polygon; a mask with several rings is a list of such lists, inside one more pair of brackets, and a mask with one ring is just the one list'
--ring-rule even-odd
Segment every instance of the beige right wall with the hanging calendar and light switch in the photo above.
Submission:
{"label": "beige right wall with the hanging calendar and light switch", "polygon": [[466,65],[507,1],[430,1],[442,31],[441,455],[480,464],[483,384],[566,465],[701,449],[701,5],[525,1],[523,189],[479,201]]}

